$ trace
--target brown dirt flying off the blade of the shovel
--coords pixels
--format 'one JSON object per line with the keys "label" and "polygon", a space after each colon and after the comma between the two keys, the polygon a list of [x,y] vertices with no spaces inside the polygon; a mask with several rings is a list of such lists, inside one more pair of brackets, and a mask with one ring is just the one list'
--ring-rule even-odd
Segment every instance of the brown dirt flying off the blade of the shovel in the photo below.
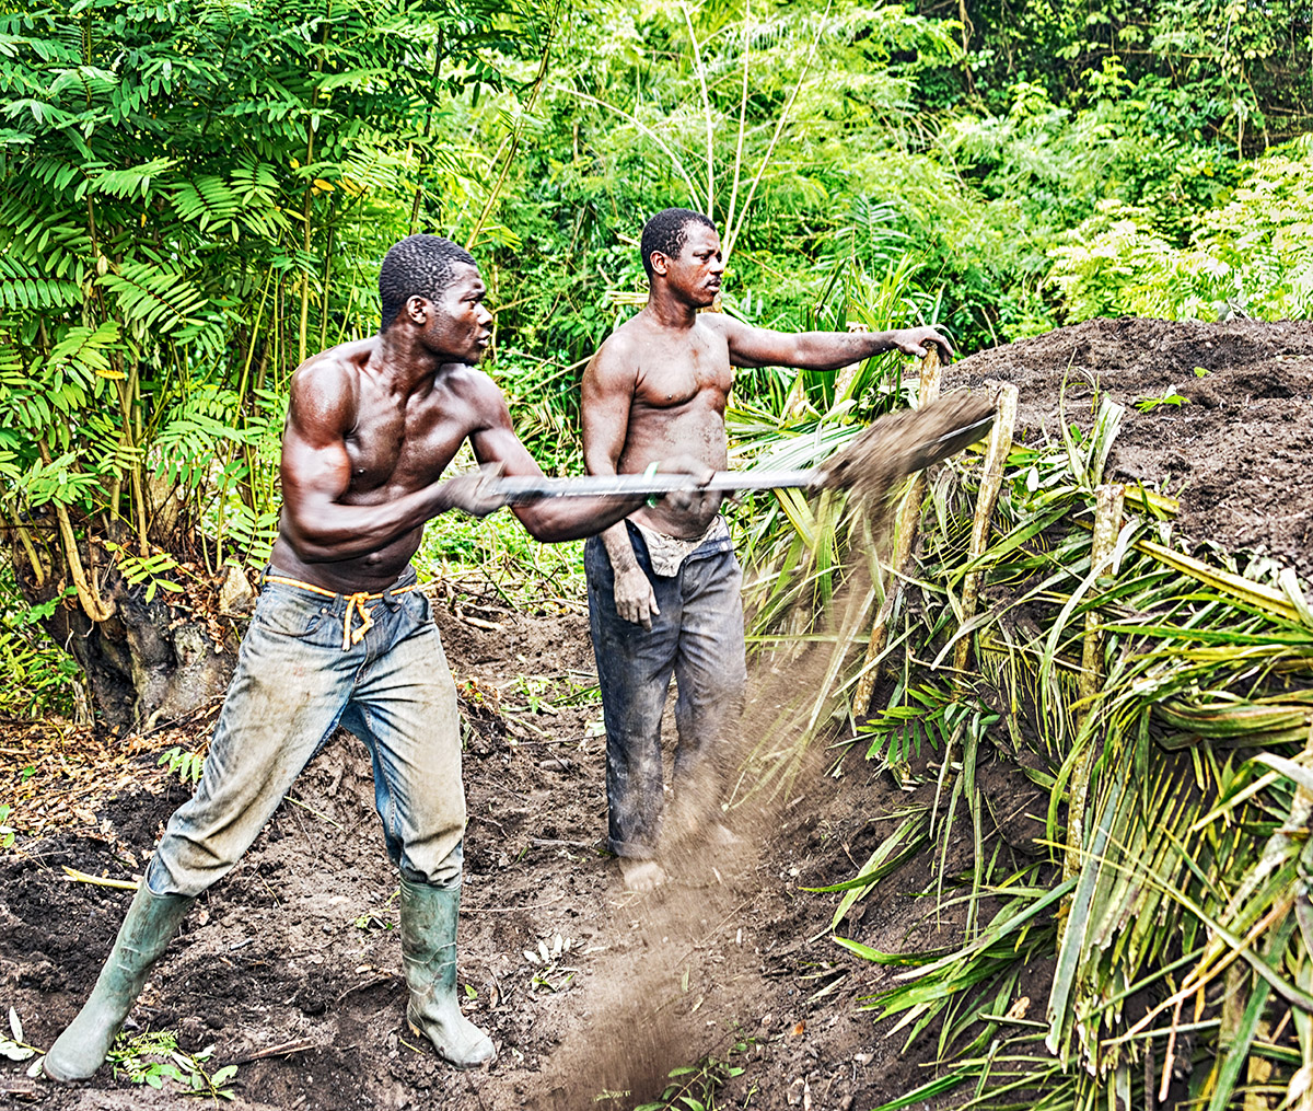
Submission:
{"label": "brown dirt flying off the blade of the shovel", "polygon": [[958,390],[920,408],[881,416],[825,465],[823,485],[851,490],[880,508],[901,479],[983,439],[994,404],[993,391]]}

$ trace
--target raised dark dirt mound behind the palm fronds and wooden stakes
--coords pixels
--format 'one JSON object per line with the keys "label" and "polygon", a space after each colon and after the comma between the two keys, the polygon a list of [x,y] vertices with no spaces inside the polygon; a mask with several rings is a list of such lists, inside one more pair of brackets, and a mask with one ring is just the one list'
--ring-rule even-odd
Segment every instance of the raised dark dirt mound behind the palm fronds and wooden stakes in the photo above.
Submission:
{"label": "raised dark dirt mound behind the palm fronds and wooden stakes", "polygon": [[[1313,322],[1088,320],[944,369],[1014,382],[1018,439],[1088,431],[1096,395],[1125,407],[1107,477],[1180,502],[1176,536],[1253,550],[1313,578]],[[1138,402],[1138,406],[1137,406]]]}

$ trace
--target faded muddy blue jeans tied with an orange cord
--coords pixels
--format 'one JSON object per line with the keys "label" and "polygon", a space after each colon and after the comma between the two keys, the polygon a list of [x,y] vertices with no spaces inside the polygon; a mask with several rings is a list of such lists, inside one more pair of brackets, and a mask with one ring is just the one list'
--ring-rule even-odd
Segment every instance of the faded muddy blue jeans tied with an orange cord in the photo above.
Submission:
{"label": "faded muddy blue jeans tied with an orange cord", "polygon": [[265,582],[196,795],[169,818],[146,872],[151,892],[196,896],[225,876],[339,725],[369,749],[393,863],[415,881],[460,884],[456,686],[414,583],[407,569],[381,598],[362,599],[362,612],[349,596]]}

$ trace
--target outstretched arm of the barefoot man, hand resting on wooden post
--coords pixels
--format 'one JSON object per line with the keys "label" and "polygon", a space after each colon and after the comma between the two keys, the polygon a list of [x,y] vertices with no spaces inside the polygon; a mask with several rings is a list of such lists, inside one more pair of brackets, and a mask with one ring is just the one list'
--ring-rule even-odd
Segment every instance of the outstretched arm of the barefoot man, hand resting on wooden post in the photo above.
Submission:
{"label": "outstretched arm of the barefoot man, hand resting on wooden post", "polygon": [[893,332],[775,332],[754,328],[733,316],[706,314],[701,318],[716,328],[729,345],[735,366],[800,366],[809,370],[838,370],[871,359],[884,351],[923,356],[934,344],[940,357],[953,357],[949,341],[934,328],[899,328]]}

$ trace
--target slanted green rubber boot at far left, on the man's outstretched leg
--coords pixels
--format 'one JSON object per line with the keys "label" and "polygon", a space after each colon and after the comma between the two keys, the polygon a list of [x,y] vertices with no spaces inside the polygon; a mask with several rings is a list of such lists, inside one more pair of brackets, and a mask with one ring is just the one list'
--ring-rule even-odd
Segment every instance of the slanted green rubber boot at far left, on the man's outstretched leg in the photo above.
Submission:
{"label": "slanted green rubber boot at far left, on the man's outstretched leg", "polygon": [[101,1066],[147,973],[194,901],[192,896],[151,894],[142,882],[91,998],[46,1053],[46,1076],[85,1079]]}

